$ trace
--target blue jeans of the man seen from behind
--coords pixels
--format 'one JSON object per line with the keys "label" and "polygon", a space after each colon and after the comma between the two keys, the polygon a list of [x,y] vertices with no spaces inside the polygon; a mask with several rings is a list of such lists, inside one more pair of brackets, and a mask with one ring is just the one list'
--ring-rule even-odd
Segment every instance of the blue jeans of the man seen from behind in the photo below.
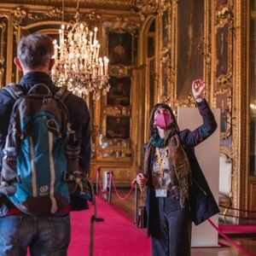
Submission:
{"label": "blue jeans of the man seen from behind", "polygon": [[0,256],[65,256],[70,241],[70,216],[11,215],[0,218]]}

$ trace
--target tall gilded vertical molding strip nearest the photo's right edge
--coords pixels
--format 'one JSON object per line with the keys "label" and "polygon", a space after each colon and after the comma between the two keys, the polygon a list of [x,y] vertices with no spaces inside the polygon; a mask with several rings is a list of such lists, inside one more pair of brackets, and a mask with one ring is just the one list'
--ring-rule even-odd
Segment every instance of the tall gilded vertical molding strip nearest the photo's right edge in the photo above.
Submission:
{"label": "tall gilded vertical molding strip nearest the photo's right edge", "polygon": [[235,1],[234,77],[232,96],[233,207],[247,209],[248,200],[248,2]]}

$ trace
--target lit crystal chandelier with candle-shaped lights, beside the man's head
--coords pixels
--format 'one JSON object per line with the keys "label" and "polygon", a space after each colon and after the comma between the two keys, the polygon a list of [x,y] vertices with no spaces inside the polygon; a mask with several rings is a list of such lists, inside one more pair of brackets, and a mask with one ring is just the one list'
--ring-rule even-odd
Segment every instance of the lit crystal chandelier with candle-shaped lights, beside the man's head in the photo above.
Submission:
{"label": "lit crystal chandelier with candle-shaped lights, beside the man's head", "polygon": [[[106,95],[108,83],[108,58],[99,56],[100,44],[96,38],[97,28],[91,32],[85,21],[75,15],[75,24],[59,30],[60,42],[54,40],[55,66],[51,77],[56,85],[67,85],[77,96],[93,93],[93,100]],[[64,35],[67,34],[67,38]]]}

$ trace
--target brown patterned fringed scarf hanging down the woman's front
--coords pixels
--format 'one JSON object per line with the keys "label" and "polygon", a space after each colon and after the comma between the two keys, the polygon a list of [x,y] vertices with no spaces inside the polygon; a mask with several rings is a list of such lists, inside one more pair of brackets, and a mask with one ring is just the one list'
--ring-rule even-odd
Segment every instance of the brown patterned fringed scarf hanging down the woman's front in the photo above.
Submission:
{"label": "brown patterned fringed scarf hanging down the woman's front", "polygon": [[[186,206],[186,199],[189,198],[189,186],[192,184],[191,168],[189,165],[189,159],[185,153],[178,135],[172,136],[168,141],[168,159],[170,166],[174,166],[178,185],[180,187],[180,204],[181,207]],[[151,139],[148,142],[145,150],[144,157],[144,175],[149,177],[150,160],[152,160],[152,154],[154,154],[154,145],[151,143]]]}

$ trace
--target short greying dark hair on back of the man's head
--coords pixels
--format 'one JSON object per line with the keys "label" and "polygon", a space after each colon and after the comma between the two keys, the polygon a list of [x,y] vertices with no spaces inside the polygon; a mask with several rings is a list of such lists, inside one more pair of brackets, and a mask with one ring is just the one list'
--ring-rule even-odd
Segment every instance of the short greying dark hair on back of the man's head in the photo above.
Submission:
{"label": "short greying dark hair on back of the man's head", "polygon": [[45,34],[32,33],[21,38],[18,55],[24,67],[45,67],[54,55],[54,45],[51,38]]}

